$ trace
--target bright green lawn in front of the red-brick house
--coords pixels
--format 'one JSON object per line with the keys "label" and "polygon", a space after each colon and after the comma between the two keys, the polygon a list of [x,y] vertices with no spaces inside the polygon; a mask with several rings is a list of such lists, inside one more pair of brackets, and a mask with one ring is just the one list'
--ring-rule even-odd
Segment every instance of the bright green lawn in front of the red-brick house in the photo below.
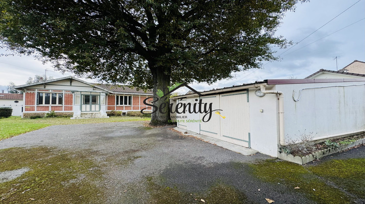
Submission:
{"label": "bright green lawn in front of the red-brick house", "polygon": [[121,116],[110,117],[109,119],[70,119],[70,118],[41,118],[41,119],[21,119],[21,117],[12,116],[6,119],[0,119],[0,140],[23,133],[38,130],[51,125],[72,125],[72,124],[89,124],[105,122],[125,122],[141,121],[138,116]]}

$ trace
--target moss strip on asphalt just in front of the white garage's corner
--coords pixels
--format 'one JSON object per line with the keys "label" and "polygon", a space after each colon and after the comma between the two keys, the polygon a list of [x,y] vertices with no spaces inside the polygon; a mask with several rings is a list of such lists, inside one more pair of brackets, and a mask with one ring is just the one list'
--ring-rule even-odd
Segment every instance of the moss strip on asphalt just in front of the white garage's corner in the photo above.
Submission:
{"label": "moss strip on asphalt just in front of the white garage's corner", "polygon": [[[327,185],[305,167],[287,161],[267,160],[250,164],[256,177],[274,183],[282,183],[294,191],[304,193],[321,204],[348,204],[350,198],[345,192]],[[300,187],[294,189],[294,187]]]}

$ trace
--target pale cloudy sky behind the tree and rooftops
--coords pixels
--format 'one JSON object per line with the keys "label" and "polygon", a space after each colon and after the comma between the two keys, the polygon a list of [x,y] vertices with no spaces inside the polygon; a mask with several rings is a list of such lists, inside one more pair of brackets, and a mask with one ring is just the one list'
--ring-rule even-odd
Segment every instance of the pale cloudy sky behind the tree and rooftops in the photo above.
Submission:
{"label": "pale cloudy sky behind the tree and rooftops", "polygon": [[[286,14],[276,34],[293,42],[299,42],[357,1],[310,0],[310,2],[299,3],[295,12]],[[365,61],[364,18],[365,0],[360,0],[302,42],[289,47],[289,51],[287,51],[288,49],[278,50],[276,55],[281,56],[281,61],[268,63],[262,69],[235,73],[234,79],[221,80],[212,85],[192,84],[192,87],[203,91],[265,79],[305,78],[321,68],[336,70],[336,60],[334,60],[336,56],[338,69],[347,66],[354,60]],[[284,51],[286,52],[283,53]],[[31,56],[1,56],[0,89],[6,89],[4,86],[10,82],[14,82],[16,85],[25,84],[28,77],[44,74],[45,69],[49,70],[47,75],[55,78],[72,75],[71,73],[63,75],[50,65],[43,65]],[[90,79],[82,80],[96,82]],[[184,90],[179,92],[183,93]]]}

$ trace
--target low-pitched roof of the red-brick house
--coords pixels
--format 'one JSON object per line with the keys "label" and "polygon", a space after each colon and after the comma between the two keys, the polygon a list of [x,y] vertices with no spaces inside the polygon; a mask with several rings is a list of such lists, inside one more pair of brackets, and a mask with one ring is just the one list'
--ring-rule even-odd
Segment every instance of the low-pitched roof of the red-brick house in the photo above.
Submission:
{"label": "low-pitched roof of the red-brick house", "polygon": [[34,86],[34,85],[43,85],[43,84],[56,82],[56,81],[61,81],[61,80],[65,80],[65,79],[73,79],[73,80],[82,82],[82,83],[90,85],[92,87],[102,89],[102,90],[110,92],[110,93],[146,93],[146,94],[152,94],[152,92],[150,90],[147,90],[145,92],[142,89],[137,90],[138,88],[128,87],[126,85],[94,84],[94,83],[89,83],[89,82],[82,81],[82,80],[77,79],[73,76],[67,76],[67,77],[62,77],[62,78],[57,78],[57,79],[51,79],[51,80],[37,82],[37,83],[31,83],[31,84],[27,84],[27,85],[17,85],[14,88],[20,89],[20,88],[25,88],[25,87]]}

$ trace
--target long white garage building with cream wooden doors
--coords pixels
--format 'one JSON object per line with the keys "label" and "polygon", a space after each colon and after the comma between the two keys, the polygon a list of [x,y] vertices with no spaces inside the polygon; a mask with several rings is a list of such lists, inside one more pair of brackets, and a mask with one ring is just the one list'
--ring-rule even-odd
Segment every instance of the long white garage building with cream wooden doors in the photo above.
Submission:
{"label": "long white garage building with cream wooden doors", "polygon": [[172,100],[178,127],[274,157],[290,139],[365,131],[365,78],[273,79]]}

